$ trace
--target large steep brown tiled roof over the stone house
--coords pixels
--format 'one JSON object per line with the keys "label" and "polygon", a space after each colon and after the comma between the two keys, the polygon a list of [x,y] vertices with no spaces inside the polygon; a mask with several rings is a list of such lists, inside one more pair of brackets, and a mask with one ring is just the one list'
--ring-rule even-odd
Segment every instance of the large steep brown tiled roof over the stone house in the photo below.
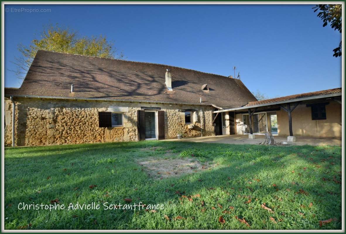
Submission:
{"label": "large steep brown tiled roof over the stone house", "polygon": [[[165,85],[172,73],[173,92]],[[71,93],[71,84],[74,93]],[[201,90],[208,84],[209,91]],[[243,106],[256,98],[239,79],[162,64],[87,57],[39,50],[18,89],[5,95],[34,95]]]}

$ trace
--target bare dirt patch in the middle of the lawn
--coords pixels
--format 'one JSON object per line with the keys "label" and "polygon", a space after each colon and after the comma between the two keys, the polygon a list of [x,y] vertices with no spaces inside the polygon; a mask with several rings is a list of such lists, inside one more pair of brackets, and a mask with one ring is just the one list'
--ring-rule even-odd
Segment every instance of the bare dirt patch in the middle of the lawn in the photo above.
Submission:
{"label": "bare dirt patch in the middle of the lawn", "polygon": [[176,158],[145,158],[137,163],[147,171],[147,173],[157,179],[191,174],[201,170],[211,169],[213,165],[204,165],[195,159]]}

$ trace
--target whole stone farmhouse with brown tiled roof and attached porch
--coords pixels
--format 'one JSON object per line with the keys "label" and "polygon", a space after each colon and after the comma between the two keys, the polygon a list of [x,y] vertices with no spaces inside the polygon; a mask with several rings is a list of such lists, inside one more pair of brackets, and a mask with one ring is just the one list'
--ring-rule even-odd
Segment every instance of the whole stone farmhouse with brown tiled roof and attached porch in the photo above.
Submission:
{"label": "whole stone farmhouse with brown tiled roof and attached porch", "polygon": [[6,146],[342,131],[341,88],[257,101],[232,77],[42,50],[4,96]]}

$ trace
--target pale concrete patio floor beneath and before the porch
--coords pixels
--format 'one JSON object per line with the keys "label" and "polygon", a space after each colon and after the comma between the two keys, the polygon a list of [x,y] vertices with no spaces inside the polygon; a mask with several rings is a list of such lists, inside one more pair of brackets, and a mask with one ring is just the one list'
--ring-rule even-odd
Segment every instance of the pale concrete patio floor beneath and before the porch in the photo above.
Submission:
{"label": "pale concrete patio floor beneath and before the porch", "polygon": [[[297,141],[287,142],[286,136],[275,136],[274,140],[278,143],[287,142],[290,145],[311,145],[311,146],[341,146],[341,138],[313,138],[313,137],[299,137],[296,136]],[[193,137],[169,139],[166,141],[189,141],[189,142],[205,142],[205,143],[225,143],[225,144],[259,144],[264,141],[264,135],[256,135],[256,139],[248,139],[248,135],[220,135],[209,137]]]}

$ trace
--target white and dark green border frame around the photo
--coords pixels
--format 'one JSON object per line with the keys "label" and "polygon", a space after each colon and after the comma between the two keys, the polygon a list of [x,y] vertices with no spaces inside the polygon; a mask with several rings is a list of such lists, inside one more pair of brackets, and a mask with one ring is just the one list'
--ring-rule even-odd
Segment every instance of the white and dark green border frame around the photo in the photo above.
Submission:
{"label": "white and dark green border frame around the photo", "polygon": [[[1,2],[1,111],[4,113],[4,5],[5,4],[268,4],[268,5],[291,5],[291,4],[342,4],[342,24],[345,25],[345,2],[340,2],[340,1],[333,1],[333,2],[323,2],[323,1],[316,1],[316,2],[303,2],[303,1],[292,1],[292,2],[268,2],[268,1],[263,1],[263,2],[242,2],[242,1],[234,1],[234,2],[173,2],[173,1],[167,1],[167,2],[162,2],[162,1],[157,1],[157,2],[124,2],[124,1],[119,1],[119,2],[96,2],[96,1],[90,1],[90,2]],[[345,45],[345,30],[342,31],[342,44]],[[341,61],[341,66],[342,66],[342,73],[341,73],[341,81],[342,81],[342,89],[344,90],[344,85],[345,85],[345,46],[342,47],[342,61]],[[291,100],[292,101],[292,100]],[[230,110],[227,110],[230,111]],[[221,111],[222,112],[222,111]],[[216,113],[216,112],[212,112]],[[345,118],[345,103],[344,103],[344,93],[342,92],[342,171],[343,175],[345,175],[345,128],[344,128],[344,118]],[[4,127],[4,119],[3,115],[1,116],[1,128]],[[1,131],[1,142],[4,142],[4,132]],[[344,176],[345,178],[345,176]],[[111,232],[124,232],[124,233],[133,233],[133,232],[201,232],[201,233],[207,233],[207,232],[219,232],[219,233],[225,233],[225,232],[236,232],[236,233],[248,233],[248,232],[260,232],[260,233],[275,233],[275,232],[285,232],[285,233],[292,233],[292,232],[307,232],[307,233],[327,233],[327,232],[338,232],[338,233],[344,233],[345,230],[345,180],[342,180],[342,230],[49,230],[49,232],[52,233],[60,233],[60,232],[70,232],[70,233],[111,233]],[[1,212],[4,214],[4,144],[1,144]],[[1,216],[1,232],[6,232],[6,233],[44,233],[47,232],[45,230],[4,230],[4,215]]]}

